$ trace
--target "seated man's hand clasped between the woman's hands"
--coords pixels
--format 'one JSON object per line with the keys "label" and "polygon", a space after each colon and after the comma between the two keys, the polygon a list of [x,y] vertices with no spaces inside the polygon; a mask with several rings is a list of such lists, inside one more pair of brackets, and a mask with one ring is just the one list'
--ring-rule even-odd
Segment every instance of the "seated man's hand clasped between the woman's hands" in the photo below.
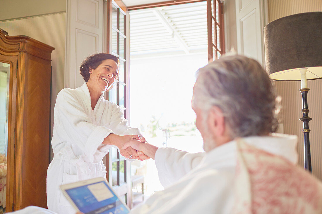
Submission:
{"label": "seated man's hand clasped between the woman's hands", "polygon": [[142,142],[141,140],[130,140],[123,145],[122,149],[132,147],[135,150],[139,151],[137,154],[141,159],[145,156],[154,159],[158,147],[145,142]]}

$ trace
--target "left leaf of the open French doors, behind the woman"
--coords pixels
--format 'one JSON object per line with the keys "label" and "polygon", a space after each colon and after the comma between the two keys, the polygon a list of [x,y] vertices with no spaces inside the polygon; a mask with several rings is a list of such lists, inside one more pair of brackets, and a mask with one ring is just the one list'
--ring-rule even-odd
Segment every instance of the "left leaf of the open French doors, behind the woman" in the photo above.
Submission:
{"label": "left leaf of the open French doors, behind the woman", "polygon": [[[107,50],[119,58],[119,79],[115,81],[109,91],[107,99],[124,112],[129,121],[129,38],[128,12],[121,1],[108,1]],[[121,156],[117,149],[111,148],[107,156],[107,178],[110,184],[130,207],[132,204],[132,185],[130,176],[130,162]]]}

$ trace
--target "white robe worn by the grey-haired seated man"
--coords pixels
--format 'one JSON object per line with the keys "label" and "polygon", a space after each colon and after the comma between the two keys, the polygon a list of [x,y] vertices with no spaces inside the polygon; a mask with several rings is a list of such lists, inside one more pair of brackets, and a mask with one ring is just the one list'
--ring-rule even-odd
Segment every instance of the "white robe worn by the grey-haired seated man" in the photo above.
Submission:
{"label": "white robe worn by the grey-haired seated man", "polygon": [[[297,137],[242,138],[247,144],[297,163]],[[236,141],[208,153],[191,154],[170,147],[156,151],[155,162],[165,190],[157,191],[131,214],[232,213],[237,162]],[[238,182],[238,181],[236,181]]]}

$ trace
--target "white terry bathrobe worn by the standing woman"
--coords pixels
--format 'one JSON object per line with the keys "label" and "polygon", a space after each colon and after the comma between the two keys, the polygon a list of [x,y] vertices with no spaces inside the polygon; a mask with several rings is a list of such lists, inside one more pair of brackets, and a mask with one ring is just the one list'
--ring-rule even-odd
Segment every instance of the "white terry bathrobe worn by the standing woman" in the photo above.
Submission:
{"label": "white terry bathrobe worn by the standing woman", "polygon": [[95,177],[105,177],[102,158],[112,147],[102,144],[110,133],[139,135],[127,126],[117,104],[100,96],[94,110],[90,92],[84,83],[75,90],[64,88],[57,95],[54,108],[52,149],[54,158],[47,170],[48,209],[59,214],[75,213],[59,186]]}

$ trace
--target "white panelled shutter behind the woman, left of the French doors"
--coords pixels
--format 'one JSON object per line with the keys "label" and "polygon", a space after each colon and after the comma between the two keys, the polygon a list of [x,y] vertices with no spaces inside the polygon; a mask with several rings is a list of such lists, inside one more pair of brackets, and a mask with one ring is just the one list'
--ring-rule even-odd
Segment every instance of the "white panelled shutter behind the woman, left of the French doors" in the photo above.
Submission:
{"label": "white panelled shutter behind the woman, left of the French doors", "polygon": [[65,86],[80,87],[82,60],[103,48],[103,0],[67,0]]}

